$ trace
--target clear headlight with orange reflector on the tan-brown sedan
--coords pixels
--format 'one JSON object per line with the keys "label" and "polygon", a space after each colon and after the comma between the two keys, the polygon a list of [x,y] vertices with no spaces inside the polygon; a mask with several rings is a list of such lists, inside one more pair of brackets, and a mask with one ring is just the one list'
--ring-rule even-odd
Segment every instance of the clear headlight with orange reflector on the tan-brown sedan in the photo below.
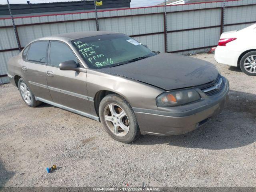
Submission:
{"label": "clear headlight with orange reflector on the tan-brown sedan", "polygon": [[201,97],[194,89],[184,89],[165,92],[156,98],[156,104],[159,107],[172,107],[183,105],[199,100]]}

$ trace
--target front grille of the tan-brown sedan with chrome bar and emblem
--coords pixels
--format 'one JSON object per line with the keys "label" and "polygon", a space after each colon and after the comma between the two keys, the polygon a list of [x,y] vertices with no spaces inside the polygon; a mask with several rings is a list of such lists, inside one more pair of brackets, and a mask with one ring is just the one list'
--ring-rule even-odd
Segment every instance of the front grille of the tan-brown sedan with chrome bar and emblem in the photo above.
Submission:
{"label": "front grille of the tan-brown sedan with chrome bar and emblem", "polygon": [[198,88],[200,88],[206,95],[208,96],[212,96],[214,94],[217,94],[218,92],[220,92],[223,88],[223,80],[221,78],[221,76],[219,75],[216,80],[203,84],[201,86],[198,86]]}

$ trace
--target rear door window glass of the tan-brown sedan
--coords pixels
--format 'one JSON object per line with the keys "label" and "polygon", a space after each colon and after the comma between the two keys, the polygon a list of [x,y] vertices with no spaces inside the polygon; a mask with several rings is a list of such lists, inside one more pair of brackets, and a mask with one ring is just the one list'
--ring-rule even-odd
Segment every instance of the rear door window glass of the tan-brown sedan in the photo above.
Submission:
{"label": "rear door window glass of the tan-brown sedan", "polygon": [[32,62],[45,63],[48,41],[38,41],[30,45],[27,60]]}

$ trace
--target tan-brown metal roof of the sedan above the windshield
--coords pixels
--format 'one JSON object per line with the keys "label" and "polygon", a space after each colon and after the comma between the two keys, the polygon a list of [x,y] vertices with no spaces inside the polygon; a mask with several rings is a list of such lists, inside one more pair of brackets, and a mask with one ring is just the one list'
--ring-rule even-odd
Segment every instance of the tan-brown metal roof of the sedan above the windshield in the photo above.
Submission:
{"label": "tan-brown metal roof of the sedan above the windshield", "polygon": [[54,36],[43,37],[43,38],[40,38],[40,40],[53,40],[53,39],[75,40],[75,39],[80,39],[80,38],[84,38],[84,37],[106,35],[106,34],[117,34],[117,33],[108,32],[108,31],[84,31],[84,32],[64,33],[64,34],[58,34],[58,35],[54,35]]}

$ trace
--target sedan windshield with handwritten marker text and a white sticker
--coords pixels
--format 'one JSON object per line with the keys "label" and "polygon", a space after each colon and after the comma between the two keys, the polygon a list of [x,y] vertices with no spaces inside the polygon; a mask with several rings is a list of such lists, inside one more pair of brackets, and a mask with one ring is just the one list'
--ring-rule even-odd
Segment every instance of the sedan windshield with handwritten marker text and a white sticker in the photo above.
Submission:
{"label": "sedan windshield with handwritten marker text and a white sticker", "polygon": [[89,68],[106,68],[156,55],[124,34],[108,34],[72,41]]}

